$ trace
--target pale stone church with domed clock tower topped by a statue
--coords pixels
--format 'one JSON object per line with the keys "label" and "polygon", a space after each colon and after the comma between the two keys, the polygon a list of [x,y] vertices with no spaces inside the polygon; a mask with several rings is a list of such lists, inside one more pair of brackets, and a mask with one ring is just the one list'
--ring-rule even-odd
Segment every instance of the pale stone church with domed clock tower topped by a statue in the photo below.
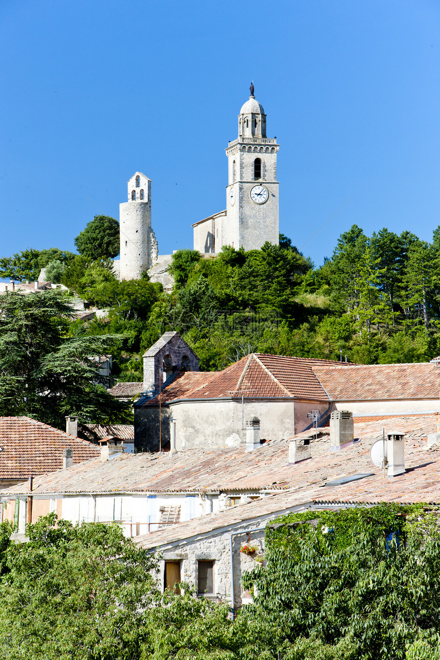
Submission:
{"label": "pale stone church with domed clock tower topped by a statue", "polygon": [[251,96],[238,116],[238,137],[229,143],[226,211],[193,224],[194,249],[220,252],[230,245],[261,249],[265,242],[279,242],[279,183],[276,180],[276,138],[267,137],[266,115]]}

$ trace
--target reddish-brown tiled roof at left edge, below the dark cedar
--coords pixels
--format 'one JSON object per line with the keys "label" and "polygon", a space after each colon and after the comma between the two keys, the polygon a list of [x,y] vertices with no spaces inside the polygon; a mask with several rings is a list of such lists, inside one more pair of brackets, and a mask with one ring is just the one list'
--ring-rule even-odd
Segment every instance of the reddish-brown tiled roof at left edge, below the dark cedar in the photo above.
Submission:
{"label": "reddish-brown tiled roof at left edge, below the dark cedar", "polygon": [[99,453],[96,445],[30,417],[0,417],[0,479],[28,479],[63,467],[63,449],[73,449],[73,462]]}

